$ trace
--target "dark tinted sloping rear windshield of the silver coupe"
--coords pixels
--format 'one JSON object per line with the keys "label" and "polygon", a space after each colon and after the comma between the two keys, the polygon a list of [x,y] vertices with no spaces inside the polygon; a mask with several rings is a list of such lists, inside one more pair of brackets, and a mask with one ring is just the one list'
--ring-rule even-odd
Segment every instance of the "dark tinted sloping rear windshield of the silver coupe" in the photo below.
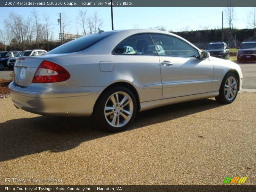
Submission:
{"label": "dark tinted sloping rear windshield of the silver coupe", "polygon": [[63,45],[60,45],[59,47],[56,47],[55,49],[53,49],[48,53],[54,54],[54,53],[71,53],[71,52],[82,51],[92,46],[93,44],[101,41],[107,36],[110,36],[111,34],[113,34],[113,32],[103,32],[103,33],[94,33],[91,35],[86,35],[78,39],[75,39],[73,41],[70,41],[68,43],[65,43]]}

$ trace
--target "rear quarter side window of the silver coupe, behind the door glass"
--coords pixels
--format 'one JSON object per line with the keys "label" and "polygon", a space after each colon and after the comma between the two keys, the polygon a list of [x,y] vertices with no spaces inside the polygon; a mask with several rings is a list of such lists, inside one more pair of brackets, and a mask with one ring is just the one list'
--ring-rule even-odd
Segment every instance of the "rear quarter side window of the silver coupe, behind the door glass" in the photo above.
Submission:
{"label": "rear quarter side window of the silver coupe, behind the door glass", "polygon": [[113,54],[157,55],[154,44],[148,34],[128,37],[112,52]]}

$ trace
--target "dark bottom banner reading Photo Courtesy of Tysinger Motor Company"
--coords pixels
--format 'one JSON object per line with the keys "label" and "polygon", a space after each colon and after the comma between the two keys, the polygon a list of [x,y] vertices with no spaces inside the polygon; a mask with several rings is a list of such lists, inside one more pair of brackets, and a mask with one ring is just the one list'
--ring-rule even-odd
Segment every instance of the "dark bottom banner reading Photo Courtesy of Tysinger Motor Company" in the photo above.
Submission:
{"label": "dark bottom banner reading Photo Courtesy of Tysinger Motor Company", "polygon": [[251,192],[256,191],[256,186],[252,185],[221,185],[221,186],[202,186],[202,185],[193,185],[193,186],[178,186],[178,185],[55,185],[55,186],[33,186],[33,185],[8,185],[0,186],[1,192],[102,192],[102,191],[122,191],[122,192],[210,192],[210,191],[221,191],[221,192],[230,192],[230,191],[239,191],[239,192]]}

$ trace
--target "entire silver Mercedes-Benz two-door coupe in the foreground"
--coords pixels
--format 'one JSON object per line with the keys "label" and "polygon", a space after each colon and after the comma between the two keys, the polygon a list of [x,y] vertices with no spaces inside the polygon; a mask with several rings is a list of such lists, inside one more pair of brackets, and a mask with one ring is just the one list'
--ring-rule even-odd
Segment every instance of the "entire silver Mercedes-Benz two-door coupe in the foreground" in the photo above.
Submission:
{"label": "entire silver Mercedes-Benz two-door coupe in the foreground", "polygon": [[243,80],[236,63],[210,57],[180,36],[148,29],[100,32],[42,56],[20,57],[14,74],[9,88],[17,108],[92,115],[113,132],[151,108],[210,97],[231,103]]}

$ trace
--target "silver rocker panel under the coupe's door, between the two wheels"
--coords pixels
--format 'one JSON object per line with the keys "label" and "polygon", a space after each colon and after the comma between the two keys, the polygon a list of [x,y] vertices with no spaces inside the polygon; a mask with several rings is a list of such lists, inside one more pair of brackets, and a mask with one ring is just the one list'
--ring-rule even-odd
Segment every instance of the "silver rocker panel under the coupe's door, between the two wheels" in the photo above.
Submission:
{"label": "silver rocker panel under the coupe's door, between the two wheels", "polygon": [[174,97],[174,98],[170,98],[170,99],[142,102],[142,103],[140,103],[140,111],[145,111],[145,110],[152,109],[152,108],[162,107],[162,106],[170,105],[170,104],[174,104],[174,103],[216,97],[218,95],[219,95],[219,91],[216,91],[216,92],[207,92],[207,93],[201,93],[201,94],[196,94],[196,95]]}

